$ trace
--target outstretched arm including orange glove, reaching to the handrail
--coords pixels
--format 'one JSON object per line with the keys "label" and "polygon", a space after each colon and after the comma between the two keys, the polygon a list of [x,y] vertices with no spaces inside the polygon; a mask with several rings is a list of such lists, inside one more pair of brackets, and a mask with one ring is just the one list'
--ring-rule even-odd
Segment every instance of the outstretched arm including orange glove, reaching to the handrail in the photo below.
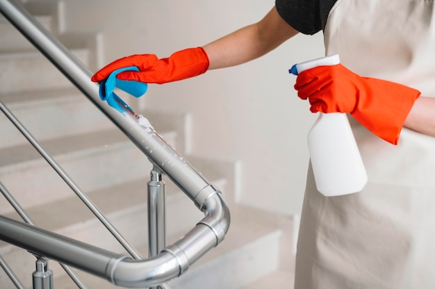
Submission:
{"label": "outstretched arm including orange glove, reaching to the handrail", "polygon": [[238,65],[263,56],[296,34],[277,9],[272,8],[260,22],[207,44],[203,49],[184,49],[162,59],[155,54],[126,56],[100,69],[91,80],[101,82],[118,68],[137,66],[139,72],[121,72],[117,78],[160,84],[180,81],[203,74],[207,69]]}

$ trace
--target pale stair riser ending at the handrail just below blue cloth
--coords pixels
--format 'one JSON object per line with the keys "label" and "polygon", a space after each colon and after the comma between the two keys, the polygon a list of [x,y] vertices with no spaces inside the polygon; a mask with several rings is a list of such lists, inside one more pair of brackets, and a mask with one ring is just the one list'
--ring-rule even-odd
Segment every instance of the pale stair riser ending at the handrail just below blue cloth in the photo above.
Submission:
{"label": "pale stair riser ending at the handrail just below blue cloth", "polygon": [[[8,108],[38,141],[113,127],[108,118],[79,93],[63,95],[58,101],[35,101]],[[5,135],[0,149],[27,142],[3,115],[0,115],[0,131]]]}

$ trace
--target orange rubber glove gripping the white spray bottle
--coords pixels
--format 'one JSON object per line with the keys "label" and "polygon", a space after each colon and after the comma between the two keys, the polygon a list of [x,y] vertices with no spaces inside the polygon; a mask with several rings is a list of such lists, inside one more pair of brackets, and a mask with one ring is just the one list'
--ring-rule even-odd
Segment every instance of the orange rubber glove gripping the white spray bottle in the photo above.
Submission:
{"label": "orange rubber glove gripping the white spray bottle", "polygon": [[309,99],[311,112],[350,113],[359,123],[397,145],[400,131],[420,92],[398,83],[361,77],[343,65],[301,72],[295,90]]}

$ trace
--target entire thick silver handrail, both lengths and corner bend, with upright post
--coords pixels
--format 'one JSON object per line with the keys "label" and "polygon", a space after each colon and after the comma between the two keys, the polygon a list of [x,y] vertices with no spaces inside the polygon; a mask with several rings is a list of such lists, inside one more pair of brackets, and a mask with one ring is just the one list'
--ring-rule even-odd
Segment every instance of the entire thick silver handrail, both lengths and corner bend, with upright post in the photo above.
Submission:
{"label": "entire thick silver handrail, both lengths and corner bend, with upright post", "polygon": [[[144,125],[143,117],[121,104],[119,113],[99,99],[98,85],[90,81],[89,70],[60,44],[22,6],[0,0],[0,12],[53,63],[101,112],[103,112],[153,164],[149,192],[149,254],[142,260],[115,254],[92,245],[60,236],[30,224],[0,216],[0,239],[37,256],[108,279],[126,287],[159,286],[180,276],[207,251],[224,239],[230,215],[220,190],[184,160],[156,131]],[[204,219],[173,245],[165,246],[164,184],[162,175],[173,181],[204,213]],[[42,264],[44,265],[44,264]],[[159,285],[161,284],[161,285]]]}

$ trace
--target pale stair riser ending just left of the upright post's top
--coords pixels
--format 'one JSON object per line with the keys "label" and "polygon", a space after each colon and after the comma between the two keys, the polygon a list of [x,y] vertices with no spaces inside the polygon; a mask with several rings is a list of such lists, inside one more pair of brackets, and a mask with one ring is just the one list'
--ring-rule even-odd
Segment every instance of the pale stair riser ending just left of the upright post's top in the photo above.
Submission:
{"label": "pale stair riser ending just left of the upright post's top", "polygon": [[[147,176],[151,163],[129,142],[55,156],[57,163],[84,192]],[[0,167],[3,185],[24,208],[73,194],[44,160]],[[6,213],[10,208],[0,208]]]}

